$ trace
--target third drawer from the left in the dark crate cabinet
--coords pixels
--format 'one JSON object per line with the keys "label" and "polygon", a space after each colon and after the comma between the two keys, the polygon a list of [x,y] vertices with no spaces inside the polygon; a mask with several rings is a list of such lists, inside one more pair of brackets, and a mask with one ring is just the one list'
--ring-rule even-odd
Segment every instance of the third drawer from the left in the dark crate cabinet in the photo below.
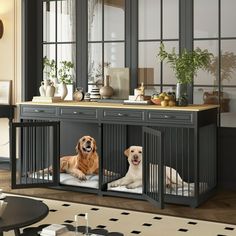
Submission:
{"label": "third drawer from the left in the dark crate cabinet", "polygon": [[109,121],[137,121],[142,122],[145,120],[145,112],[137,110],[123,110],[123,109],[104,109],[103,120]]}

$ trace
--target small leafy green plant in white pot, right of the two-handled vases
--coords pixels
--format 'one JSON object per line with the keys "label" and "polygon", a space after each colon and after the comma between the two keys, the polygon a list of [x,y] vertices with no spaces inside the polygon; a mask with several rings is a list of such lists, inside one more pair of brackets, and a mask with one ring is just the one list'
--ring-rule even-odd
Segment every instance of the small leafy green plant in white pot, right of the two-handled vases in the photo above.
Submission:
{"label": "small leafy green plant in white pot, right of the two-handled vases", "polygon": [[73,100],[73,68],[74,64],[71,61],[61,61],[57,71],[57,78],[60,82],[61,99],[64,100],[68,94],[68,100]]}

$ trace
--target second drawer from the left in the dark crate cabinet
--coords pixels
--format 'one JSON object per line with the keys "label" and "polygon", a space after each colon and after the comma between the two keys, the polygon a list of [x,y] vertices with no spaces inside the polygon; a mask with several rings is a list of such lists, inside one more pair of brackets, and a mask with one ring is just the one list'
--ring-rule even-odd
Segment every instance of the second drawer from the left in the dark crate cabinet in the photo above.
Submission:
{"label": "second drawer from the left in the dark crate cabinet", "polygon": [[59,114],[61,117],[65,118],[79,118],[79,119],[89,119],[89,120],[97,120],[98,119],[98,111],[96,108],[60,108]]}

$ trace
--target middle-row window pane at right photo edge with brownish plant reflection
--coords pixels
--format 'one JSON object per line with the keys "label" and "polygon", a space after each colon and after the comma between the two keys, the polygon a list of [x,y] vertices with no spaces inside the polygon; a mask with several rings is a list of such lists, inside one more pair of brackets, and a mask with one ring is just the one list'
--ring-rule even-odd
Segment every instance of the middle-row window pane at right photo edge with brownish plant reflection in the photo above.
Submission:
{"label": "middle-row window pane at right photo edge with brownish plant reflection", "polygon": [[236,39],[221,41],[221,84],[236,85]]}

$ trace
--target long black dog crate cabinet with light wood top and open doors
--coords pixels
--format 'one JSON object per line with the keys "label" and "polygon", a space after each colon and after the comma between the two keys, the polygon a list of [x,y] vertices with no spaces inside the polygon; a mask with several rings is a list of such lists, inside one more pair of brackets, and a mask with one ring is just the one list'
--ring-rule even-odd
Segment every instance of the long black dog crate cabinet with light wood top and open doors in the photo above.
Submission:
{"label": "long black dog crate cabinet with light wood top and open doors", "polygon": [[[148,199],[159,207],[163,203],[197,207],[214,193],[215,105],[162,108],[95,102],[25,102],[19,107],[21,122],[11,127],[14,188],[56,186]],[[75,155],[74,146],[83,135],[97,141],[100,159],[95,187],[60,181],[59,156]],[[110,183],[125,176],[128,170],[124,150],[132,145],[143,148],[142,186],[112,188]]]}

